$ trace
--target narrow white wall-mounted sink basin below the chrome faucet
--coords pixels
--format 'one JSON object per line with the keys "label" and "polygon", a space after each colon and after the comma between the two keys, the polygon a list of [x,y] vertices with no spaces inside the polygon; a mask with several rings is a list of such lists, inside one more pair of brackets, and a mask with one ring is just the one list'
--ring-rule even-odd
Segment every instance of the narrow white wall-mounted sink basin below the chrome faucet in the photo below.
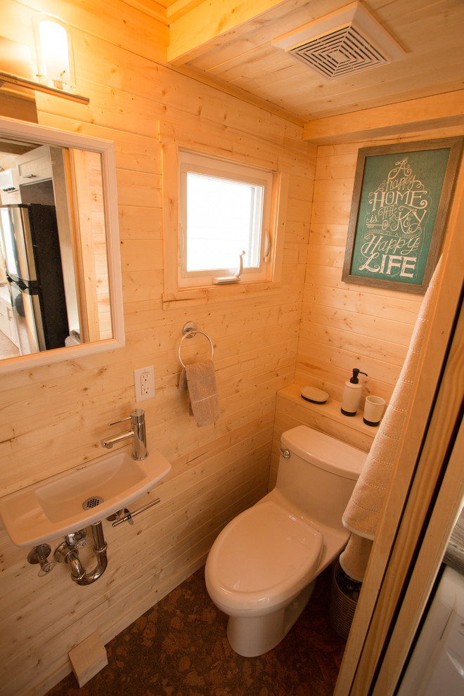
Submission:
{"label": "narrow white wall-mounted sink basin below the chrome faucet", "polygon": [[36,546],[121,510],[170,470],[156,450],[141,461],[126,450],[105,454],[0,498],[0,517],[16,546]]}

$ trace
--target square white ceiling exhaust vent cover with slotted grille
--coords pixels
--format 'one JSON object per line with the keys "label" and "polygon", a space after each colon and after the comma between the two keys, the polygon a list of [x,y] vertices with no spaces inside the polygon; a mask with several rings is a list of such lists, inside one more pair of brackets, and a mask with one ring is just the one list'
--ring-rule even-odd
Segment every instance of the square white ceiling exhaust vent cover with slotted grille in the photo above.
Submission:
{"label": "square white ceiling exhaust vent cover with slotted grille", "polygon": [[404,56],[359,2],[285,34],[273,44],[326,79],[352,75]]}

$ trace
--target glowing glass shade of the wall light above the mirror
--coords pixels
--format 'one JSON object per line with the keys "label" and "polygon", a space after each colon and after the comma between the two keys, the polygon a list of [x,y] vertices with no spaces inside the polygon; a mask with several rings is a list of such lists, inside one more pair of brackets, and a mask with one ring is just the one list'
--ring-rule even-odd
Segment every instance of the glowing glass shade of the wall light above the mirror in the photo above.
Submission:
{"label": "glowing glass shade of the wall light above the mirror", "polygon": [[37,78],[42,84],[63,91],[75,91],[76,75],[69,27],[53,15],[32,17],[37,56]]}

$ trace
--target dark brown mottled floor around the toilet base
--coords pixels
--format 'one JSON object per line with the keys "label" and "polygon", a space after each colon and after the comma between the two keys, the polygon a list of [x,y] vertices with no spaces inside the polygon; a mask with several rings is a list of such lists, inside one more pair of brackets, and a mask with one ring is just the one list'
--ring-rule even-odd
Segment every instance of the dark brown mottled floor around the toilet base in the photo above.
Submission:
{"label": "dark brown mottled floor around the toilet base", "polygon": [[200,568],[106,645],[108,666],[82,689],[70,674],[49,696],[330,696],[345,645],[330,626],[330,578],[328,568],[280,645],[246,658]]}

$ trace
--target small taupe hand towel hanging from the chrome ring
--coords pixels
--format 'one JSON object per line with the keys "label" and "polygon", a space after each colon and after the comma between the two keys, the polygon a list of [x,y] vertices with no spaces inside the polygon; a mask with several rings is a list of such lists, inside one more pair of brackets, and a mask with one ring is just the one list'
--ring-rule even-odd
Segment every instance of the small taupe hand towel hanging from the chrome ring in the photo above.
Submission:
{"label": "small taupe hand towel hanging from the chrome ring", "polygon": [[186,365],[181,373],[179,389],[188,391],[189,411],[195,417],[198,427],[216,423],[219,418],[219,399],[212,360]]}

